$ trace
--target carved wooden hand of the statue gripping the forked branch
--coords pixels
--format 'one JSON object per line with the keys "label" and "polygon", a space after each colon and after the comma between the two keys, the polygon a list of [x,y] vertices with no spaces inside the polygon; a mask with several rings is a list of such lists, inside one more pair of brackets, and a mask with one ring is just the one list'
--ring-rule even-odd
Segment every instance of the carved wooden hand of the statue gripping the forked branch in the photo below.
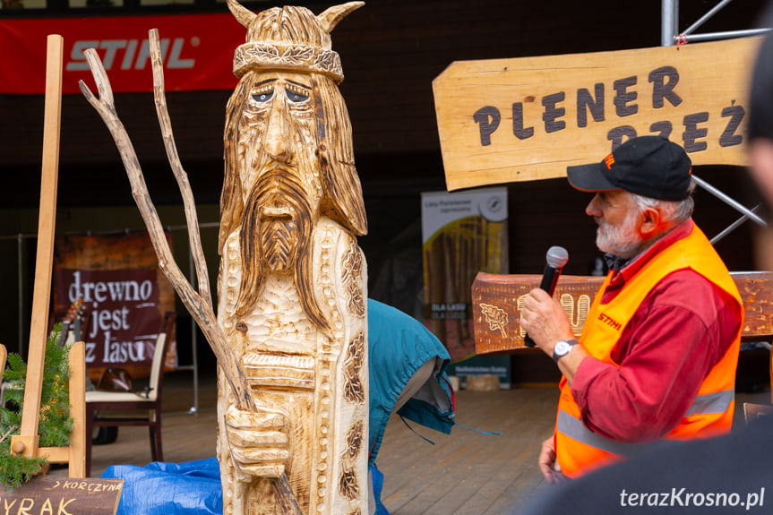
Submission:
{"label": "carved wooden hand of the statue gripping the forked branch", "polygon": [[226,412],[231,458],[245,476],[279,477],[289,458],[285,416],[233,406]]}

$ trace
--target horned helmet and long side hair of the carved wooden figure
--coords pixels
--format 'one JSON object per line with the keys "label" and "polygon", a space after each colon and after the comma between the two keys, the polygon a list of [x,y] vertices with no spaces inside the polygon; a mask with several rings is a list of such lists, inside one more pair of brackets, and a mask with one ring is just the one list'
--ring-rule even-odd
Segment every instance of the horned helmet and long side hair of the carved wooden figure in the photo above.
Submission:
{"label": "horned helmet and long side hair of the carved wooden figure", "polygon": [[[323,177],[324,208],[330,216],[358,236],[367,233],[362,187],[354,166],[351,124],[348,111],[338,91],[343,81],[339,55],[331,50],[331,30],[348,13],[365,4],[349,2],[335,5],[314,15],[305,7],[273,7],[253,13],[236,0],[228,0],[228,8],[236,20],[247,29],[246,42],[234,53],[234,74],[242,78],[228,102],[226,142],[238,140],[239,105],[244,105],[249,91],[245,77],[253,71],[288,70],[318,76],[314,85],[334,90],[334,94],[313,93],[317,116],[316,157]],[[240,218],[242,192],[238,180],[236,151],[230,145],[226,156],[226,177],[221,201],[220,249]]]}

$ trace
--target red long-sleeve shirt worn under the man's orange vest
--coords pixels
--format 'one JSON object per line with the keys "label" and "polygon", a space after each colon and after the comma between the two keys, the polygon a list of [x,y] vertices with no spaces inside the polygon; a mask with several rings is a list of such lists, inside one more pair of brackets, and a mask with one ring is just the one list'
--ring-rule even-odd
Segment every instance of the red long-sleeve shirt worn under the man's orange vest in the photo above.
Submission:
{"label": "red long-sleeve shirt worn under the man's orange vest", "polygon": [[[607,303],[625,282],[668,245],[690,234],[692,220],[615,272]],[[582,422],[620,442],[649,442],[684,416],[711,367],[733,342],[742,313],[732,297],[689,269],[661,280],[636,310],[612,352],[614,366],[587,357],[571,393]]]}

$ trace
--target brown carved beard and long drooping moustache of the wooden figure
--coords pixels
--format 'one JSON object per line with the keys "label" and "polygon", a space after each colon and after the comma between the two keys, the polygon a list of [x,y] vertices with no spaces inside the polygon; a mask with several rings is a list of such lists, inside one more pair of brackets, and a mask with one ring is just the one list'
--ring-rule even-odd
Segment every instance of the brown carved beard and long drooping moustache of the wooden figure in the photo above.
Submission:
{"label": "brown carved beard and long drooping moustache of the wooden figure", "polygon": [[313,292],[312,221],[309,196],[296,173],[275,167],[258,179],[247,199],[239,232],[242,284],[236,317],[253,309],[264,269],[292,271],[306,316],[316,327],[330,329]]}

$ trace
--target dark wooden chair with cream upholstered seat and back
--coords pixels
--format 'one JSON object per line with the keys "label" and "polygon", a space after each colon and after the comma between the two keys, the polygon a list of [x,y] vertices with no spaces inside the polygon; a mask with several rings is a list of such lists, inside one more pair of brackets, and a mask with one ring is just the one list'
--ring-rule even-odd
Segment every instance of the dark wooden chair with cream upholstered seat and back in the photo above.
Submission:
{"label": "dark wooden chair with cream upholstered seat and back", "polygon": [[[161,397],[164,384],[164,358],[167,356],[170,335],[174,328],[176,313],[168,312],[164,326],[156,341],[153,362],[150,368],[150,391],[145,394],[131,391],[87,391],[86,392],[86,434],[92,434],[94,427],[118,425],[147,425],[150,431],[150,455],[153,461],[163,461],[161,448]],[[116,412],[124,412],[116,416]],[[128,413],[127,413],[128,412]],[[86,445],[86,476],[91,473],[91,439]]]}

